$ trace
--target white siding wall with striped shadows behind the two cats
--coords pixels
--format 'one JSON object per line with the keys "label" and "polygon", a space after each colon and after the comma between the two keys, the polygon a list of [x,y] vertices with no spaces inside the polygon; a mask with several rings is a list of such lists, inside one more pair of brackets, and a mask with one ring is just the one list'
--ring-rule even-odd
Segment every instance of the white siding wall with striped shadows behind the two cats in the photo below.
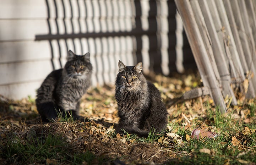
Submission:
{"label": "white siding wall with striped shadows behind the two cats", "polygon": [[168,17],[176,11],[169,11],[168,3],[174,5],[167,0],[1,0],[0,95],[35,97],[44,78],[64,66],[69,49],[91,53],[94,86],[114,83],[118,60],[143,62],[145,72],[154,65],[168,74],[175,49],[168,48],[174,34]]}

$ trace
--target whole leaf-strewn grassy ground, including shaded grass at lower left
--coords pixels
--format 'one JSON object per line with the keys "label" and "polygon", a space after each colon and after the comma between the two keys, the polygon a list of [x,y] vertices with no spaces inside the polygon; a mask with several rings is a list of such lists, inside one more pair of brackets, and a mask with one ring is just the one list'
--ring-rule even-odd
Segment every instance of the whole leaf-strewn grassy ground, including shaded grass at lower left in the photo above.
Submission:
{"label": "whole leaf-strewn grassy ground, including shaded grass at lower left", "polygon": [[[0,111],[0,117],[7,117],[0,121],[0,164],[256,164],[256,99],[241,98],[226,114],[221,114],[209,97],[168,107],[168,96],[176,92],[168,86],[174,84],[175,88],[175,80],[163,83],[167,86],[161,91],[169,113],[167,132],[151,132],[146,138],[120,135],[93,121],[74,121],[69,114],[59,114],[60,119],[53,123],[39,123],[39,116],[23,122],[20,114],[32,113],[31,98],[21,108],[18,103],[4,104],[2,109],[6,110]],[[103,87],[89,91],[81,104],[83,114],[116,123],[113,91]],[[86,111],[88,107],[93,110]],[[219,136],[192,139],[195,128]],[[32,129],[35,133],[28,133]]]}

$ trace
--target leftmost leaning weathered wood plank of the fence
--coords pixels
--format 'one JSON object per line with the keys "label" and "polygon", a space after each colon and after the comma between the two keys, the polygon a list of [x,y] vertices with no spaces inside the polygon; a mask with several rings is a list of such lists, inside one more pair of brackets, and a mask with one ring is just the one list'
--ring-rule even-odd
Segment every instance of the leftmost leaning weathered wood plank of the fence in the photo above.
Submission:
{"label": "leftmost leaning weathered wood plank of the fence", "polygon": [[210,94],[214,100],[215,105],[219,105],[220,111],[224,113],[226,111],[226,105],[223,97],[220,97],[222,96],[222,93],[220,91],[211,65],[209,65],[211,63],[208,56],[206,56],[207,51],[203,44],[200,31],[198,30],[190,2],[189,0],[175,0],[175,4],[183,20],[187,38],[191,45],[198,70],[203,79],[203,84],[205,87],[209,87],[211,90]]}

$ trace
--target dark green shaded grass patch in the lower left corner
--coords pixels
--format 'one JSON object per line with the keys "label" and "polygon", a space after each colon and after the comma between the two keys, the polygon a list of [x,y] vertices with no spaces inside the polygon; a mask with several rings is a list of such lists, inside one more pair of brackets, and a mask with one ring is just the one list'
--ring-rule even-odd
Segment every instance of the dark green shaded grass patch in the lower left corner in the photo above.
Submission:
{"label": "dark green shaded grass patch in the lower left corner", "polygon": [[[71,153],[71,154],[70,154]],[[92,164],[96,156],[91,152],[79,152],[73,150],[69,143],[65,142],[61,135],[49,134],[48,136],[32,138],[29,141],[16,137],[7,141],[2,150],[1,157],[10,164]],[[98,163],[103,160],[98,157]]]}

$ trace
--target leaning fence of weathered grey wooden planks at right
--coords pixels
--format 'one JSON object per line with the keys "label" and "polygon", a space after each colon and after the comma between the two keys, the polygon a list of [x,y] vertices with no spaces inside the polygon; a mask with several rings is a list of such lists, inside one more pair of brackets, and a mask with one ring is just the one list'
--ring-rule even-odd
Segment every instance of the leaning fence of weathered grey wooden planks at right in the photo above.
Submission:
{"label": "leaning fence of weathered grey wooden planks at right", "polygon": [[[221,112],[224,98],[239,87],[246,98],[256,91],[256,1],[175,0],[184,23],[205,94]],[[200,89],[201,90],[201,89]],[[202,94],[202,92],[200,93]]]}

